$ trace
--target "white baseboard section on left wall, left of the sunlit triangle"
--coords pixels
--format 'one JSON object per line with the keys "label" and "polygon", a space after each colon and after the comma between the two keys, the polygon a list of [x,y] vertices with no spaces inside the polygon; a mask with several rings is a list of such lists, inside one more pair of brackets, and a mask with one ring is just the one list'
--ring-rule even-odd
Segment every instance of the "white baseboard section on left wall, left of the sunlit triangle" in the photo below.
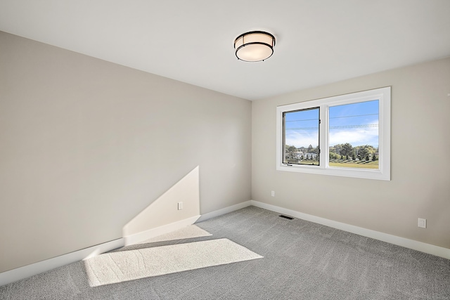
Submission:
{"label": "white baseboard section on left wall, left of the sunlit triangle", "polygon": [[0,286],[124,246],[122,238],[0,273]]}

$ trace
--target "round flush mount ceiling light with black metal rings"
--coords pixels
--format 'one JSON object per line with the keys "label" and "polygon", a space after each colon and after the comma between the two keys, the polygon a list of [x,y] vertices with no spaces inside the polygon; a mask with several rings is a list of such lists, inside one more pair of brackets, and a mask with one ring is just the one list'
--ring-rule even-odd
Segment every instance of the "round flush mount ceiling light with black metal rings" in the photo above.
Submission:
{"label": "round flush mount ceiling light with black metal rings", "polygon": [[266,60],[274,54],[275,37],[269,32],[252,31],[234,40],[236,57],[244,61]]}

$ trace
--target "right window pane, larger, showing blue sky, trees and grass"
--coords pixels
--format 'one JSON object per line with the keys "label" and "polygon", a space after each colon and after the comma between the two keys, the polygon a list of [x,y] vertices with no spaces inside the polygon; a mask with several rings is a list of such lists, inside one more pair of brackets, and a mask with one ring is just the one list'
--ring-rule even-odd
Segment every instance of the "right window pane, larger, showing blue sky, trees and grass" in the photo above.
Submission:
{"label": "right window pane, larger, showing blue sky, trees and grass", "polygon": [[329,166],[379,169],[379,100],[329,107]]}

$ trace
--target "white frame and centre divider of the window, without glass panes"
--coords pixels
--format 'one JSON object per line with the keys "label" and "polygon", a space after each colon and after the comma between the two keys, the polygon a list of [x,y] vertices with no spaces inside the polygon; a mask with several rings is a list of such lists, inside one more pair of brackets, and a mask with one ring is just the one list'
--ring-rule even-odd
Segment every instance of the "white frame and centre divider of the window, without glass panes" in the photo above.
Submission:
{"label": "white frame and centre divider of the window, without glass panes", "polygon": [[[379,169],[354,169],[342,167],[329,167],[328,145],[328,107],[345,105],[371,100],[379,100],[378,116],[378,152]],[[283,113],[293,110],[304,110],[311,107],[320,107],[319,136],[320,154],[319,166],[302,164],[283,164]],[[278,171],[293,171],[310,174],[324,174],[331,176],[345,176],[354,178],[378,179],[390,181],[390,140],[391,140],[391,87],[349,93],[317,100],[310,100],[290,105],[276,107],[276,169]]]}

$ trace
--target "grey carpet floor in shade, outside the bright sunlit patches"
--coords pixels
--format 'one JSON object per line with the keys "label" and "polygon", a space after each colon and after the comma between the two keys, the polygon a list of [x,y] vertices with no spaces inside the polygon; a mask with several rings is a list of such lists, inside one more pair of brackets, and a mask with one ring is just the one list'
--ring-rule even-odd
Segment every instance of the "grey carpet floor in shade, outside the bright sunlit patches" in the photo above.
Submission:
{"label": "grey carpet floor in shade, outside the bright sunlit patches", "polygon": [[226,239],[257,259],[98,286],[79,261],[4,285],[0,299],[450,299],[448,259],[257,207],[195,226],[205,234],[110,254]]}

